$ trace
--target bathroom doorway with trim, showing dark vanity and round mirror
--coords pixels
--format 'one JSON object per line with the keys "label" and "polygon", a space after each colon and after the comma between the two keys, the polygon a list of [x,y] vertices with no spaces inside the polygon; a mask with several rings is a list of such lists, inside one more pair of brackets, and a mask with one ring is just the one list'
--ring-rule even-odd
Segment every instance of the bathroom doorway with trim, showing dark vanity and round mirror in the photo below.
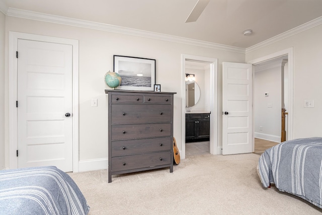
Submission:
{"label": "bathroom doorway with trim, showing dark vanity and round mirror", "polygon": [[[185,95],[183,96],[181,157],[184,159],[186,156],[215,154],[217,143],[215,122],[218,121],[217,59],[194,55],[183,55],[182,58],[182,92]],[[209,130],[207,131],[203,126],[209,127]]]}

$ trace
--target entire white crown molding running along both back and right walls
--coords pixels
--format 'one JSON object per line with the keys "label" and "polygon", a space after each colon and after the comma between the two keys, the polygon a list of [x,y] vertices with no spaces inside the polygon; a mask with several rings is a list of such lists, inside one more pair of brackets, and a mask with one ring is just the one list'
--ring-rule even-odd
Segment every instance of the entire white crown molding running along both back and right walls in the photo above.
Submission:
{"label": "entire white crown molding running along both back and right walls", "polygon": [[62,24],[62,25],[69,25],[69,26],[75,26],[75,27],[81,27],[81,28],[89,28],[89,29],[95,29],[95,30],[100,30],[100,31],[108,31],[108,32],[113,32],[113,33],[121,33],[121,34],[146,37],[146,38],[157,39],[157,40],[165,40],[165,41],[170,41],[170,42],[183,43],[183,44],[188,44],[188,45],[201,46],[201,47],[206,47],[206,48],[213,48],[213,49],[219,49],[219,50],[231,51],[231,52],[237,52],[237,53],[243,53],[243,54],[250,53],[252,51],[255,51],[257,49],[260,49],[260,48],[263,48],[267,45],[275,43],[279,40],[285,39],[285,38],[290,37],[294,34],[300,33],[302,31],[305,31],[307,29],[310,29],[310,28],[313,28],[317,25],[322,24],[322,17],[319,17],[319,18],[309,21],[303,25],[295,27],[289,31],[281,33],[277,36],[274,36],[270,39],[267,39],[263,42],[260,42],[256,45],[253,45],[253,46],[245,49],[245,48],[239,48],[239,47],[235,47],[235,46],[222,45],[222,44],[218,44],[218,43],[205,42],[205,41],[201,41],[201,40],[194,40],[194,39],[189,39],[189,38],[185,38],[185,37],[172,36],[172,35],[168,35],[168,34],[160,34],[160,33],[155,33],[155,32],[137,30],[137,29],[109,25],[109,24],[104,24],[104,23],[97,23],[97,22],[91,22],[91,21],[86,21],[86,20],[79,20],[79,19],[73,19],[73,18],[68,18],[68,17],[55,16],[55,15],[38,13],[38,12],[20,10],[20,9],[15,9],[15,8],[8,8],[7,5],[2,0],[0,0],[0,11],[2,13],[4,13],[5,15],[12,16],[12,17],[31,19],[31,20],[37,20],[37,21],[43,21],[43,22],[50,22],[50,23],[56,23],[56,24]]}

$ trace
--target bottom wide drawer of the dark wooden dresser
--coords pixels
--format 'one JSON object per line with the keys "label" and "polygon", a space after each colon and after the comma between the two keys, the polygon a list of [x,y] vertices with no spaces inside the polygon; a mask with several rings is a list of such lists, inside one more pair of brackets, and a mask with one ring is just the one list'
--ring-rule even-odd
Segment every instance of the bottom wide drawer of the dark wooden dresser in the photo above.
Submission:
{"label": "bottom wide drawer of the dark wooden dresser", "polygon": [[148,153],[112,158],[112,172],[155,167],[171,163],[171,152]]}

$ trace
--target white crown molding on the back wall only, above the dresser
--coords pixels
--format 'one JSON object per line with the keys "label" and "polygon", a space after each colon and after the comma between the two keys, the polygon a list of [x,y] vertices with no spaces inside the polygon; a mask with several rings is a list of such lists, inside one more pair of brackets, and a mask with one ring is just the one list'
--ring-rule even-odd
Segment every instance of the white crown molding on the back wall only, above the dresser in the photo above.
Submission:
{"label": "white crown molding on the back wall only, above the dresser", "polygon": [[195,45],[195,46],[201,46],[206,48],[220,49],[224,51],[232,51],[232,52],[245,54],[245,48],[227,46],[227,45],[222,45],[217,43],[205,42],[201,40],[194,40],[194,39],[189,39],[184,37],[154,33],[154,32],[137,30],[132,28],[125,28],[125,27],[91,22],[86,20],[79,20],[79,19],[67,18],[62,16],[37,13],[37,12],[20,10],[15,8],[9,8],[7,12],[7,16],[43,21],[43,22],[50,22],[50,23],[57,23],[57,24],[69,25],[69,26],[75,26],[75,27],[81,27],[81,28],[89,28],[89,29],[95,29],[95,30],[101,30],[101,31],[108,31],[108,32],[114,32],[114,33],[128,34],[132,36],[147,37],[147,38],[152,38],[157,40],[184,43],[188,45]]}

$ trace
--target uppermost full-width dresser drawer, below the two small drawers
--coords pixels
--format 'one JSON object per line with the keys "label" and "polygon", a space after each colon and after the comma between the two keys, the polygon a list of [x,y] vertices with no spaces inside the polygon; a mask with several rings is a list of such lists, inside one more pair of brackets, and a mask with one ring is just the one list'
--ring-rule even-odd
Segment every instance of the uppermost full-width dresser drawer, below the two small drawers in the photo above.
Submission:
{"label": "uppermost full-width dresser drawer, below the two small drawers", "polygon": [[171,105],[113,104],[112,124],[171,122]]}

